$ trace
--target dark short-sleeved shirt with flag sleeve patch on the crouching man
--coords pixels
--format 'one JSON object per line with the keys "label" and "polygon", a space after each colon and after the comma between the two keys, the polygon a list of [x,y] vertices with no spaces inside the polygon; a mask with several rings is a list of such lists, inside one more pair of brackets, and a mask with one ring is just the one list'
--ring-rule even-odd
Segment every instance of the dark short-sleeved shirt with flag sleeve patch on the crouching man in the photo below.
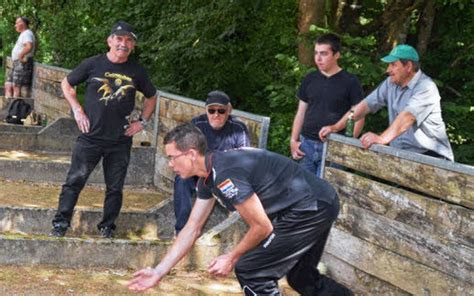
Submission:
{"label": "dark short-sleeved shirt with flag sleeve patch on the crouching man", "polygon": [[210,174],[199,179],[197,197],[214,196],[230,211],[254,193],[268,216],[289,208],[317,210],[318,201],[333,204],[336,199],[328,182],[315,178],[291,159],[267,150],[216,151],[206,155],[206,165]]}

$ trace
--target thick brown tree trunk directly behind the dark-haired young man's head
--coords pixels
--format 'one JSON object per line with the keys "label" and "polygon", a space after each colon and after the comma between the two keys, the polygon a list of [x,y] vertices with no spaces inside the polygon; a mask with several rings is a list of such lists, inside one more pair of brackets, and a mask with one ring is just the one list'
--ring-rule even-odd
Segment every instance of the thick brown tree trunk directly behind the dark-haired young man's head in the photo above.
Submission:
{"label": "thick brown tree trunk directly behind the dark-haired young man's head", "polygon": [[324,26],[325,25],[325,0],[300,0],[299,2],[299,17],[298,17],[298,31],[300,41],[298,44],[298,60],[300,63],[312,66],[313,61],[313,44],[306,38],[311,25]]}

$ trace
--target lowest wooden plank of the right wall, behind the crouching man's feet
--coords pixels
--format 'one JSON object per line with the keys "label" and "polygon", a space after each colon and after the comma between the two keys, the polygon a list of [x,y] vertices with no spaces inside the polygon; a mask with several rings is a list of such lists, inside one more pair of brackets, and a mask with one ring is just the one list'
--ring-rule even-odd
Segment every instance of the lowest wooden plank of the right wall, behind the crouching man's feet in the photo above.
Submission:
{"label": "lowest wooden plank of the right wall, behind the crouching man's feet", "polygon": [[321,262],[326,264],[329,277],[350,287],[356,295],[408,296],[410,293],[382,281],[354,266],[324,253]]}

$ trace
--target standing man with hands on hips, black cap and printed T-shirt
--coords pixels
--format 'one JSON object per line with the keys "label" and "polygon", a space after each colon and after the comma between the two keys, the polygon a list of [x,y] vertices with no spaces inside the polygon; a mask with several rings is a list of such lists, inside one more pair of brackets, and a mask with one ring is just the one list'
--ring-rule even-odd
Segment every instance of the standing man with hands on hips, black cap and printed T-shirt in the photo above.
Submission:
{"label": "standing man with hands on hips, black cap and printed T-shirt", "polygon": [[[136,39],[133,28],[119,21],[107,38],[109,51],[84,60],[61,83],[82,134],[73,149],[51,236],[65,235],[79,193],[102,159],[106,192],[103,218],[97,226],[102,237],[112,237],[122,207],[132,136],[145,128],[156,105],[156,89],[147,73],[129,59]],[[79,104],[74,89],[83,82],[86,83],[84,107]],[[136,91],[142,92],[146,99],[140,120],[129,124],[126,117],[134,109]]]}

